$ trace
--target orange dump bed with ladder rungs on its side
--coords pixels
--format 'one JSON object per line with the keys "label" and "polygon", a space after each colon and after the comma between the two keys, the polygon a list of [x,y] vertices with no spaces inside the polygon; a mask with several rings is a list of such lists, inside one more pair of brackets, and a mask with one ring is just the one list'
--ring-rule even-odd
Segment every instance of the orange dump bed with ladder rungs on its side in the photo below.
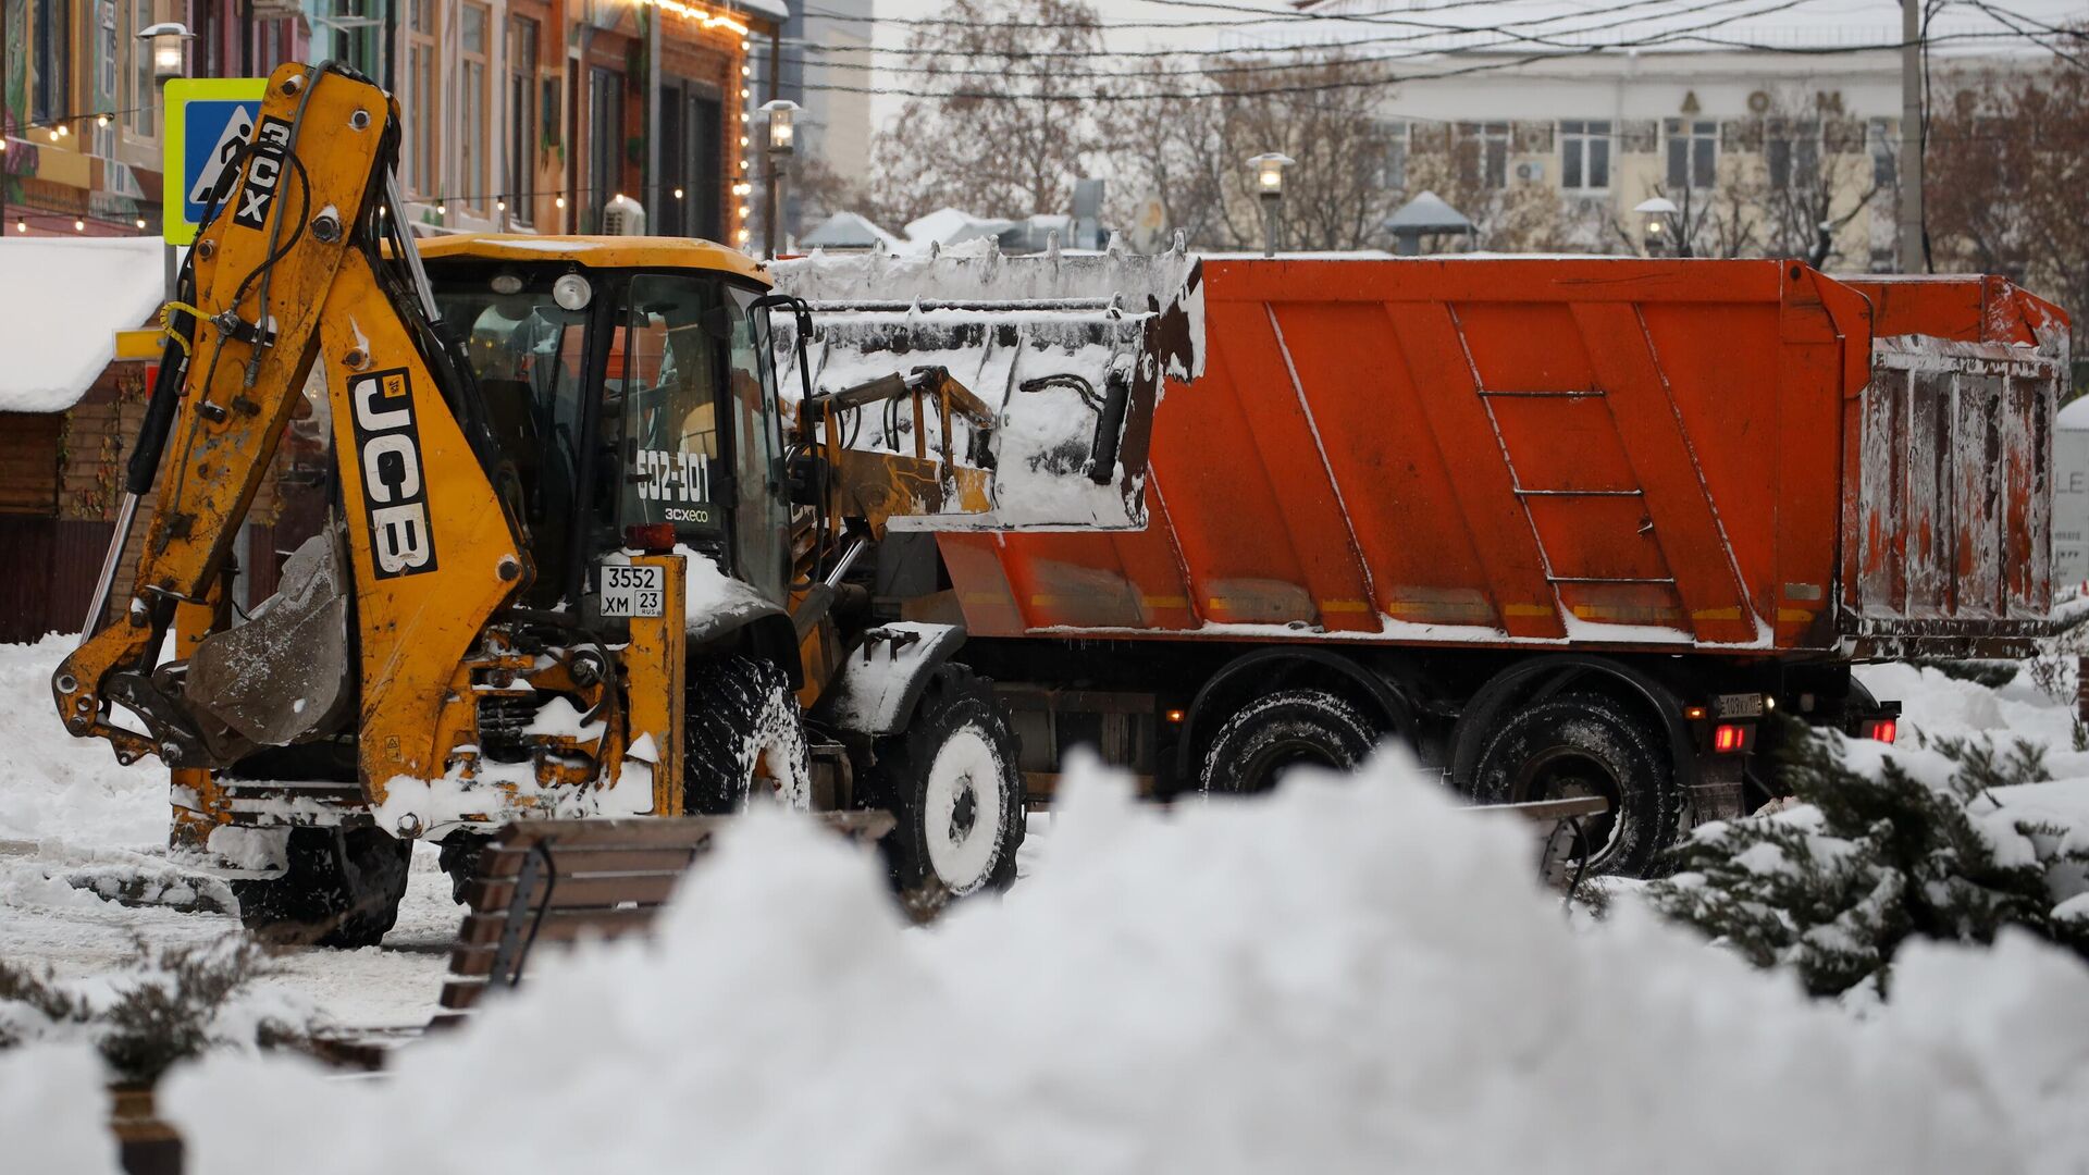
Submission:
{"label": "orange dump bed with ladder rungs on its side", "polygon": [[[1895,610],[1905,592],[1847,575],[1859,525],[1907,537],[1907,514],[1861,508],[1865,454],[1909,435],[1865,401],[1878,295],[1790,261],[1207,259],[1203,274],[1205,376],[1172,383],[1155,414],[1151,525],[942,535],[976,636],[1763,654],[1836,648],[1859,613],[1874,638],[1937,629]],[[1897,293],[1895,324],[2001,347],[2001,316],[1959,322],[1945,301],[1982,303],[1949,289],[1937,305]],[[2049,422],[2049,391],[2043,416],[2026,395],[2022,420]],[[2045,516],[2033,479],[2014,481],[2016,462],[2045,468],[2045,433],[2020,452],[2016,431],[1997,427],[2010,473],[1985,485],[1999,516]],[[2041,575],[2008,594],[1980,579],[1991,604],[1951,619],[2018,633],[2043,613]]]}

